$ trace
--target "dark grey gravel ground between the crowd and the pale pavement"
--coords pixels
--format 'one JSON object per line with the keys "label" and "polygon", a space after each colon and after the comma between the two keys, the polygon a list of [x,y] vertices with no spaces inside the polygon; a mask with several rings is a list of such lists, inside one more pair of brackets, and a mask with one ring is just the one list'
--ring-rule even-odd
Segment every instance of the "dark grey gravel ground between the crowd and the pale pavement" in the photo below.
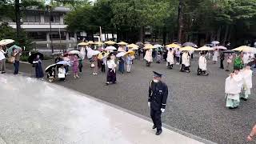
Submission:
{"label": "dark grey gravel ground between the crowd and the pale pavement", "polygon": [[[192,72],[186,74],[178,71],[179,66],[167,70],[163,63],[146,67],[144,62],[135,61],[132,73],[118,74],[118,83],[110,86],[105,85],[106,74],[94,76],[86,64],[81,78],[70,76],[66,82],[56,83],[150,117],[147,90],[152,70],[156,70],[164,74],[162,79],[170,89],[166,112],[162,114],[164,123],[212,142],[246,143],[246,136],[256,119],[255,94],[247,102],[242,101],[238,109],[226,109],[224,84],[229,73],[220,70],[219,64],[209,62],[210,75],[197,76],[197,62],[198,58],[192,60]],[[22,64],[21,71],[34,72],[25,64]],[[255,77],[253,82],[254,93]]]}

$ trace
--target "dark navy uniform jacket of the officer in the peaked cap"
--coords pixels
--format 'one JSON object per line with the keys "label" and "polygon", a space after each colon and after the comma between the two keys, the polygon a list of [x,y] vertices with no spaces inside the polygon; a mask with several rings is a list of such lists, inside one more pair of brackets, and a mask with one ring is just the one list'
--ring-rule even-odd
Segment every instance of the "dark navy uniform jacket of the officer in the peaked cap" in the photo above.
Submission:
{"label": "dark navy uniform jacket of the officer in the peaked cap", "polygon": [[166,109],[166,100],[168,96],[168,87],[164,82],[150,82],[149,98],[150,108],[153,110]]}

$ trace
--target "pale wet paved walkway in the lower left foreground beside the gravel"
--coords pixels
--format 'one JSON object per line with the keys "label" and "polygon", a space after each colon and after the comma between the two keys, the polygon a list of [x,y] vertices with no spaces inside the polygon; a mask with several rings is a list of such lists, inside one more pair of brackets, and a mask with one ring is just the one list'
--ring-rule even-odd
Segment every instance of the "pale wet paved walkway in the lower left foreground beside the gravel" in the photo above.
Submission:
{"label": "pale wet paved walkway in the lower left foreground beside the gravel", "polygon": [[152,123],[62,86],[0,77],[0,143],[199,144],[174,131],[156,136]]}

